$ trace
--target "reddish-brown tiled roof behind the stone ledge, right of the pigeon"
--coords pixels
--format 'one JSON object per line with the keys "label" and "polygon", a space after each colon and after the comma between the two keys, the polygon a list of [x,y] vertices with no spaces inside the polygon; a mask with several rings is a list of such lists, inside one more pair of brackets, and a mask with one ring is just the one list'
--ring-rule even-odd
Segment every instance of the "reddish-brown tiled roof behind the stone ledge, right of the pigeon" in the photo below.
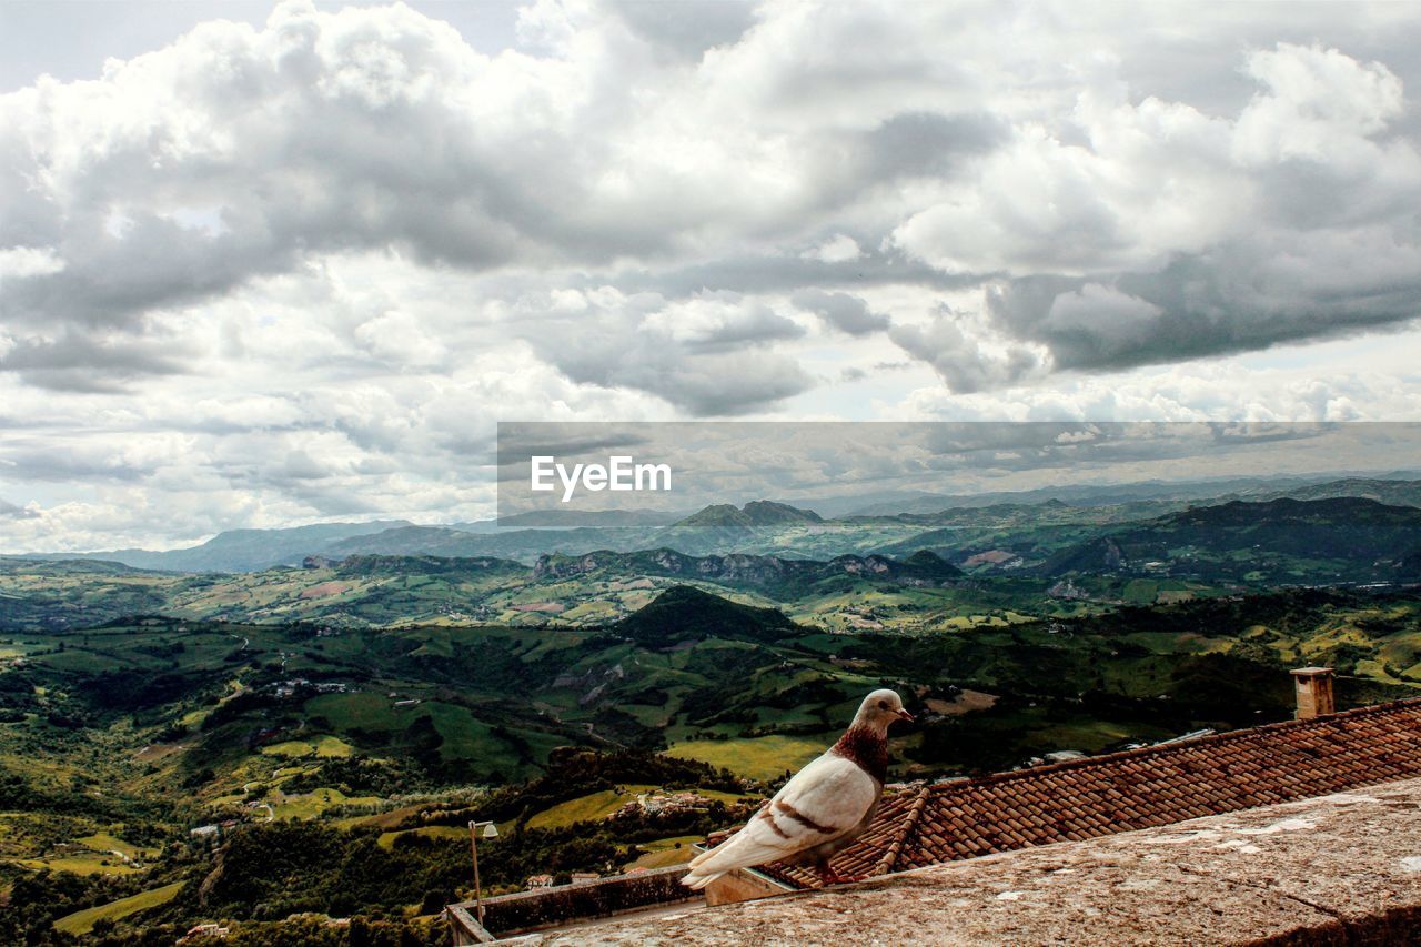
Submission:
{"label": "reddish-brown tiled roof behind the stone ledge, right of the pigeon", "polygon": [[[1079,842],[1421,776],[1421,700],[1268,724],[885,796],[840,874]],[[760,869],[820,887],[807,869]]]}

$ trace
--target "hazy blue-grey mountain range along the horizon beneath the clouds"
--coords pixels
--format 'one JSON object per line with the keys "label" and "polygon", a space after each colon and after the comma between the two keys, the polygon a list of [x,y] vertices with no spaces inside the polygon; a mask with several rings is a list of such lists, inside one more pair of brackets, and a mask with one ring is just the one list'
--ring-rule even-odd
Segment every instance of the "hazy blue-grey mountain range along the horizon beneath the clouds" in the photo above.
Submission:
{"label": "hazy blue-grey mountain range along the horizon beneath the clouds", "polygon": [[[1208,489],[1231,492],[1206,495]],[[1114,498],[1114,503],[1106,501]],[[828,559],[840,553],[871,552],[905,556],[932,547],[956,555],[965,528],[976,516],[1016,518],[1030,528],[1033,519],[1084,522],[1081,512],[1104,510],[1111,519],[1145,518],[1181,506],[1222,505],[1236,499],[1373,499],[1394,506],[1421,508],[1421,481],[1398,478],[1340,478],[1333,481],[1222,481],[1211,483],[1124,483],[1114,488],[1080,486],[982,493],[975,496],[914,495],[891,505],[891,512],[826,519],[818,512],[774,501],[745,506],[706,506],[665,525],[669,513],[526,513],[510,518],[520,529],[492,520],[416,526],[408,520],[320,523],[293,529],[237,529],[219,533],[189,549],[153,552],[119,549],[91,553],[24,553],[28,559],[108,560],[136,569],[169,572],[259,572],[294,566],[307,556],[344,559],[358,555],[497,557],[534,563],[556,552],[587,555],[595,550],[637,552],[669,547],[684,555],[706,556],[755,552],[787,557]],[[826,501],[827,502],[827,501]],[[843,501],[837,502],[843,506]],[[1107,506],[1115,506],[1114,512]],[[1069,508],[1069,509],[1067,509]],[[1070,509],[1077,510],[1070,513]],[[1088,519],[1088,518],[1086,518]],[[1098,520],[1098,518],[1097,518]],[[560,525],[564,523],[564,525]],[[581,523],[581,525],[574,525]],[[625,523],[625,525],[605,525]],[[877,526],[895,530],[887,535]],[[934,528],[936,532],[929,533]],[[918,530],[922,535],[915,535]],[[855,532],[857,530],[857,532]],[[979,529],[979,532],[982,532]]]}

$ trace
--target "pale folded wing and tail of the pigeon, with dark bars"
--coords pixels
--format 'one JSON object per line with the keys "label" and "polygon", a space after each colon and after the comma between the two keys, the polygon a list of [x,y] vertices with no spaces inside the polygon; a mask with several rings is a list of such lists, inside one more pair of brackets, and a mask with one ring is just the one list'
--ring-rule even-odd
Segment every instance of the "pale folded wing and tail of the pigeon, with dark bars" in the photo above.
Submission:
{"label": "pale folded wing and tail of the pigeon, with dark bars", "polygon": [[824,754],[729,840],[691,862],[682,883],[701,889],[733,869],[777,862],[837,839],[858,826],[878,792],[878,783],[858,764]]}

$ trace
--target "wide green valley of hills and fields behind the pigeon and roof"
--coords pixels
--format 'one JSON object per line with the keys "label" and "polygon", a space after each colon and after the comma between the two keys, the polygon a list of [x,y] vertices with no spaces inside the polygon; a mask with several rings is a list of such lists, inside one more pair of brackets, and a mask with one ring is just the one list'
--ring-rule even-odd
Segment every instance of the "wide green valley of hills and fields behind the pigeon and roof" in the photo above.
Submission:
{"label": "wide green valley of hills and fields behind the pigeon and roof", "polygon": [[0,559],[0,940],[438,943],[470,818],[490,892],[674,865],[875,687],[918,715],[895,781],[1285,719],[1302,664],[1341,705],[1421,694],[1415,506],[787,510],[701,518],[774,553]]}

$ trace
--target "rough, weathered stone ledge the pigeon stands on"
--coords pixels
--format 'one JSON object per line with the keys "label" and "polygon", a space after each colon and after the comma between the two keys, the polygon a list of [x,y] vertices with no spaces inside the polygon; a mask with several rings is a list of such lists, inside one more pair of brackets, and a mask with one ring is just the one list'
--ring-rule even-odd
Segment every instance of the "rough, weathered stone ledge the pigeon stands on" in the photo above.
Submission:
{"label": "rough, weathered stone ledge the pigeon stands on", "polygon": [[1421,779],[537,944],[1421,943]]}

